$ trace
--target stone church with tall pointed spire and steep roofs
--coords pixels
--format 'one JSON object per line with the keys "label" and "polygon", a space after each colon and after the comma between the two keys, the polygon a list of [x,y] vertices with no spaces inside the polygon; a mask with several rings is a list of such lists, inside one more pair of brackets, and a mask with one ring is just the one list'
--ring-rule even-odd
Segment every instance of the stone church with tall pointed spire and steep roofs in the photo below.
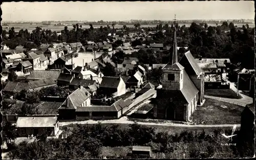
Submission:
{"label": "stone church with tall pointed spire and steep roofs", "polygon": [[176,29],[172,59],[162,68],[161,84],[156,88],[154,118],[189,121],[197,106],[204,103],[204,73],[188,51],[178,62]]}

